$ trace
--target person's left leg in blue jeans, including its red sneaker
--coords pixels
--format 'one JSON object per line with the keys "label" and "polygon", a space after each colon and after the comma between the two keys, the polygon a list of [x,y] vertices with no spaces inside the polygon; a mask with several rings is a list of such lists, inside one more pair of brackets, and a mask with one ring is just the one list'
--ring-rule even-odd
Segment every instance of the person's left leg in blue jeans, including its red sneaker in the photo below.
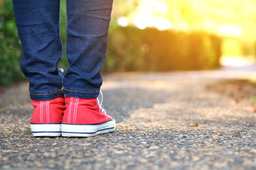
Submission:
{"label": "person's left leg in blue jeans, including its red sneaker", "polygon": [[59,31],[59,0],[13,0],[23,48],[21,69],[29,81],[30,119],[33,136],[60,136],[65,110],[57,63],[62,45]]}

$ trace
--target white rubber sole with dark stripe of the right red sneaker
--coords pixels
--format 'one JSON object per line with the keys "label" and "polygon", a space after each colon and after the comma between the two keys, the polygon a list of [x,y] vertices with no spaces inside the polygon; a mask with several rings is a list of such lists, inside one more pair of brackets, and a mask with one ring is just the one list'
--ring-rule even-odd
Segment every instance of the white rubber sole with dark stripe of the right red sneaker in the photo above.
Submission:
{"label": "white rubber sole with dark stripe of the right red sneaker", "polygon": [[61,124],[61,136],[64,137],[92,137],[97,134],[113,132],[116,129],[115,120],[97,125]]}

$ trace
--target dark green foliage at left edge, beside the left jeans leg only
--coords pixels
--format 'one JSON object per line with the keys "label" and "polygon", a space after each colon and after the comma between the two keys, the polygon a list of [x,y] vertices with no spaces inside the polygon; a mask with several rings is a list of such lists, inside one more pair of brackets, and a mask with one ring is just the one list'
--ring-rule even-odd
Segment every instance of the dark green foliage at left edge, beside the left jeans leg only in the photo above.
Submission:
{"label": "dark green foliage at left edge, beside the left jeans leg only", "polygon": [[24,79],[20,70],[22,50],[15,25],[12,1],[0,6],[0,85]]}

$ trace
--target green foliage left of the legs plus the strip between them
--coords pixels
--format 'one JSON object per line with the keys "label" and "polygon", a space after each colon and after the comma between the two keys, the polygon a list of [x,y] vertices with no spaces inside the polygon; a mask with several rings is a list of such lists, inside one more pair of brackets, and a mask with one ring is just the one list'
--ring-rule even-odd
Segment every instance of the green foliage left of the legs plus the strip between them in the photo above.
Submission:
{"label": "green foliage left of the legs plus the strip between them", "polygon": [[[4,6],[0,6],[0,85],[10,85],[13,81],[24,80],[25,77],[20,69],[22,47],[15,24],[12,0],[4,0],[3,4]],[[65,0],[61,0],[60,34],[63,41],[63,57],[59,66],[67,70]]]}

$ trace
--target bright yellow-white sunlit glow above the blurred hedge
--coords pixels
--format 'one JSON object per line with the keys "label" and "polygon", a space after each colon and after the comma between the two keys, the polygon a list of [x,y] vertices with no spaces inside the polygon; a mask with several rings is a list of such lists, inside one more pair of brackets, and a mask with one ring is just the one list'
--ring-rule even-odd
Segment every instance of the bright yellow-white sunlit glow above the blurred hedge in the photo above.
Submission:
{"label": "bright yellow-white sunlit glow above the blurred hedge", "polygon": [[216,34],[223,55],[246,57],[256,50],[255,9],[255,0],[116,0],[113,17],[122,27]]}

